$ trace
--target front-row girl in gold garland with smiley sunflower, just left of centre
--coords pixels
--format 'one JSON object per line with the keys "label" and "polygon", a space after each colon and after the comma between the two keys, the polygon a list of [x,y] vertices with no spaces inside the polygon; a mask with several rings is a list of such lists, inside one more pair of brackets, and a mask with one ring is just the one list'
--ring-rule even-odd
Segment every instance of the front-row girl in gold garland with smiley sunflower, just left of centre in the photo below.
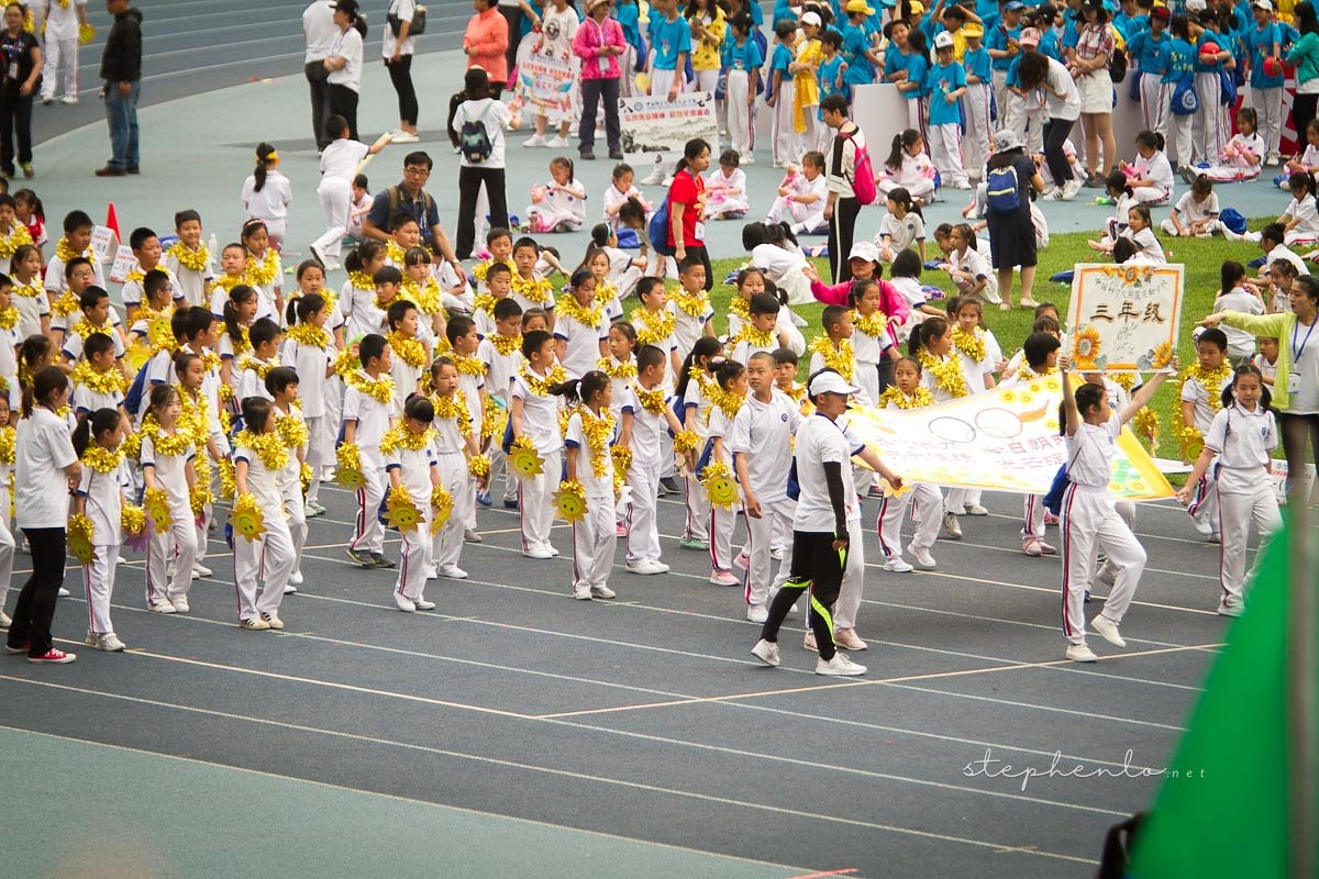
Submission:
{"label": "front-row girl in gold garland with smiley sunflower, just left of centre", "polygon": [[608,376],[592,369],[555,393],[562,393],[572,407],[563,439],[567,481],[579,485],[586,499],[584,515],[572,523],[572,597],[579,601],[613,598],[609,569],[619,542],[609,452],[617,436],[617,423],[609,411],[613,389]]}

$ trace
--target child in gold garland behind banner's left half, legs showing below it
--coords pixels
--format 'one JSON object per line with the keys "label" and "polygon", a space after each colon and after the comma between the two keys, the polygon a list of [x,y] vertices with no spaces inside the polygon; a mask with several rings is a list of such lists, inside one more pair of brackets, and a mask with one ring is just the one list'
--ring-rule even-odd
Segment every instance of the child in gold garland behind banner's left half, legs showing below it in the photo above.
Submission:
{"label": "child in gold garland behind banner's left half, legs showing below it", "polygon": [[[893,411],[934,406],[934,395],[921,383],[921,362],[915,357],[904,357],[893,366],[896,385],[880,394],[877,406]],[[907,550],[915,559],[915,567],[933,571],[934,556],[930,550],[939,536],[939,522],[943,510],[943,493],[938,485],[917,482],[901,494],[885,494],[880,501],[876,517],[876,531],[880,535],[880,550],[884,552],[884,569],[894,573],[911,571],[911,563],[902,557],[902,519],[907,509],[915,505],[915,531]]]}

